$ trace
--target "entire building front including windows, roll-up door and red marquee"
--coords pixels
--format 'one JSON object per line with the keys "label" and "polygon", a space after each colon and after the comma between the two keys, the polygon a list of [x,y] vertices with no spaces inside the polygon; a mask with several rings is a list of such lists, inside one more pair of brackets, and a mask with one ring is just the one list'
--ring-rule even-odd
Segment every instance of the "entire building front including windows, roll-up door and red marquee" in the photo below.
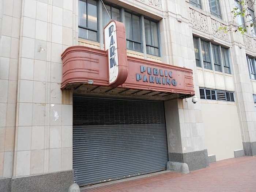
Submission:
{"label": "entire building front including windows, roll-up door and red marquee", "polygon": [[[67,191],[74,181],[84,186],[165,170],[167,161],[196,170],[256,155],[256,30],[234,32],[251,20],[234,18],[236,6],[236,0],[0,0],[0,191]],[[248,6],[253,18],[256,5]],[[106,79],[97,85],[108,71],[101,58],[108,58],[110,18],[126,32],[129,70],[117,89]],[[76,68],[95,74],[86,83],[64,82],[71,46],[78,64],[103,66]],[[158,90],[157,79],[138,85],[152,83],[140,77],[150,75],[147,65],[159,68],[154,75],[165,76],[161,68],[180,73],[177,83],[166,74],[168,90],[163,80]],[[129,66],[140,70],[138,79]],[[189,70],[192,77],[184,75]],[[178,89],[182,82],[194,92]]]}

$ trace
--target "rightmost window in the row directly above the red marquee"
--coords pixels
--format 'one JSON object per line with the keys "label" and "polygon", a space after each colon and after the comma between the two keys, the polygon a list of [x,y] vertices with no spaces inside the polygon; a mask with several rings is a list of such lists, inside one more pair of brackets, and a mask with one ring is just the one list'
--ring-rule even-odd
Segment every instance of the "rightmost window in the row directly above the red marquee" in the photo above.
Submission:
{"label": "rightmost window in the row directly above the red marquee", "polygon": [[157,23],[144,19],[147,54],[159,56]]}

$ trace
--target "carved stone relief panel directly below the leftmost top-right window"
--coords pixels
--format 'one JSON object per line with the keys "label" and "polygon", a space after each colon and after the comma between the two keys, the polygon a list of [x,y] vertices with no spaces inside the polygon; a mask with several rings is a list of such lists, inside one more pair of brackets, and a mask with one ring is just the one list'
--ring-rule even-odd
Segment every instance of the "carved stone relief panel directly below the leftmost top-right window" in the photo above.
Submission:
{"label": "carved stone relief panel directly below the leftmost top-right window", "polygon": [[189,8],[190,22],[195,29],[208,32],[207,16]]}

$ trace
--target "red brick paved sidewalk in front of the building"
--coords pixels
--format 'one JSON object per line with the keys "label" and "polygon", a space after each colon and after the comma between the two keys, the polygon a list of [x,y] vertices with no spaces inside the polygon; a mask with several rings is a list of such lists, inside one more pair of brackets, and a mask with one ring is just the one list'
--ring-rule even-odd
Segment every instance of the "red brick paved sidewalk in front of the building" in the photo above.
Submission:
{"label": "red brick paved sidewalk in front of the building", "polygon": [[211,163],[189,174],[164,173],[82,192],[256,192],[256,157],[241,157]]}

